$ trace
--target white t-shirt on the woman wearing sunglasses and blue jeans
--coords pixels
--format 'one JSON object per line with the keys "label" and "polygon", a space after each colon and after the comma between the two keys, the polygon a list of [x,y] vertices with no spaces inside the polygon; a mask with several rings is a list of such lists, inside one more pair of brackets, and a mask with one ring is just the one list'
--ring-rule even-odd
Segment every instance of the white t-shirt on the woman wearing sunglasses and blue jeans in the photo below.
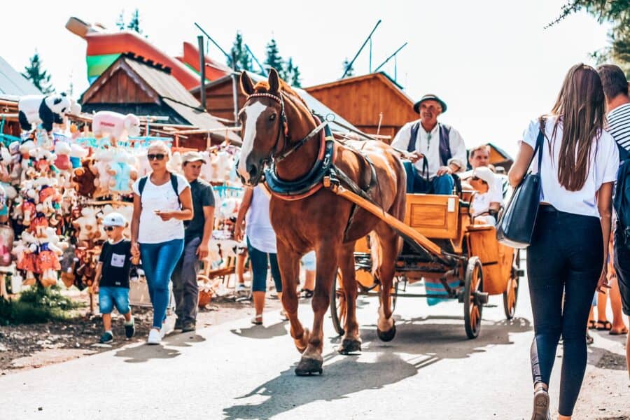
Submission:
{"label": "white t-shirt on the woman wearing sunglasses and blue jeans", "polygon": [[[181,175],[177,176],[177,192],[181,194],[190,184]],[[140,179],[134,183],[134,193],[140,195]],[[155,210],[179,210],[178,195],[175,194],[171,181],[161,186],[151,182],[151,174],[147,176],[144,190],[142,191],[142,212],[140,214],[140,226],[138,241],[141,244],[160,244],[173,239],[184,239],[183,221],[174,218],[165,222],[155,214]]]}

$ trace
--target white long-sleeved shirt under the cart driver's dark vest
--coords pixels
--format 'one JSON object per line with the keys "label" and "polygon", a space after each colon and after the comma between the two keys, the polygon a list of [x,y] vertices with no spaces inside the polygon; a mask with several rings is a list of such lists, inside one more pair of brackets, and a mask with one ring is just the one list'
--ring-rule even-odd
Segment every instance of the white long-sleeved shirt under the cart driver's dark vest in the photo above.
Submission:
{"label": "white long-sleeved shirt under the cart driver's dark vest", "polygon": [[[394,137],[393,141],[391,142],[391,146],[406,151],[407,146],[409,146],[409,137],[411,137],[412,125],[418,123],[419,121],[420,120],[416,120],[403,125],[398,134],[396,134],[396,137]],[[459,132],[452,127],[451,131],[449,132],[449,144],[451,146],[452,158],[449,159],[447,165],[450,165],[452,162],[455,165],[458,165],[460,167],[460,170],[463,171],[466,168],[466,146],[463,139],[461,138],[461,134],[459,134]],[[436,124],[430,133],[424,131],[424,128],[422,127],[422,125],[420,125],[418,129],[418,134],[416,135],[415,150],[426,156],[429,178],[433,179],[433,177],[435,177],[435,174],[437,173],[437,169],[440,169],[440,167],[442,167],[442,163],[440,162],[439,124]],[[422,172],[422,159],[418,160],[414,164],[414,166],[416,167],[417,171]]]}

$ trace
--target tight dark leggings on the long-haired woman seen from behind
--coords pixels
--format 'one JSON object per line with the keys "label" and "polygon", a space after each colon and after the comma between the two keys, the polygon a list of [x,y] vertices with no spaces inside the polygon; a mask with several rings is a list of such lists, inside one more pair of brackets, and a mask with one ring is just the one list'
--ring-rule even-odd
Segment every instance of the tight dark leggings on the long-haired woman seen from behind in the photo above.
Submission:
{"label": "tight dark leggings on the long-haired woman seen from behind", "polygon": [[[541,206],[527,251],[534,384],[549,384],[563,339],[559,414],[570,416],[587,364],[586,324],[603,265],[599,219]],[[564,299],[563,299],[564,297]]]}

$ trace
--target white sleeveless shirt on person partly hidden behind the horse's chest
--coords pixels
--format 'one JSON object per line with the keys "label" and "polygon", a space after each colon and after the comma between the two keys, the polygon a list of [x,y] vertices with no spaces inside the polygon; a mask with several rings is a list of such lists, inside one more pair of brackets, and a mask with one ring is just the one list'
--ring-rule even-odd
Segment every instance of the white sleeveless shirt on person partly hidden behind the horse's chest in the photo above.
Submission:
{"label": "white sleeveless shirt on person partly hidden behind the horse's chest", "polygon": [[245,234],[258,251],[276,253],[276,232],[269,220],[269,196],[262,185],[253,189],[251,204],[245,215]]}

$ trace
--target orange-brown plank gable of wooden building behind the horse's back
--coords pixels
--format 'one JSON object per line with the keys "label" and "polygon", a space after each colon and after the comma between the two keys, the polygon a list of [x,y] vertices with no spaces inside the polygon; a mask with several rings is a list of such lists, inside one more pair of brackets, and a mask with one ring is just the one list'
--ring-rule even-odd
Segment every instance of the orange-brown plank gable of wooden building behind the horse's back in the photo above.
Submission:
{"label": "orange-brown plank gable of wooden building behind the horse's back", "polygon": [[393,138],[402,125],[419,118],[413,109],[413,100],[382,72],[344,78],[306,90],[367,134]]}

